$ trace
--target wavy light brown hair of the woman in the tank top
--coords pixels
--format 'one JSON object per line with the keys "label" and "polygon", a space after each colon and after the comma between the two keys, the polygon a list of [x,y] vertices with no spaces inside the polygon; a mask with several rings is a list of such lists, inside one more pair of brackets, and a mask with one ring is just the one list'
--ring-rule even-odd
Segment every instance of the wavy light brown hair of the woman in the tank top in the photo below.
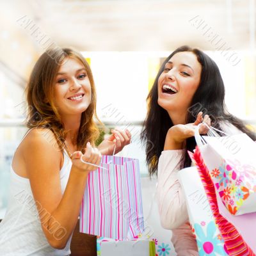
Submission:
{"label": "wavy light brown hair of the woman in the tank top", "polygon": [[64,129],[60,113],[54,105],[54,81],[61,64],[68,58],[74,58],[84,65],[92,90],[90,105],[82,113],[81,124],[77,134],[77,150],[82,150],[83,152],[88,141],[95,145],[95,140],[99,137],[99,128],[95,120],[100,125],[102,123],[96,113],[96,91],[92,70],[84,57],[73,49],[49,49],[36,61],[26,87],[28,103],[26,125],[28,128],[51,129],[57,140],[58,147],[63,150],[63,141],[65,141],[68,131]]}

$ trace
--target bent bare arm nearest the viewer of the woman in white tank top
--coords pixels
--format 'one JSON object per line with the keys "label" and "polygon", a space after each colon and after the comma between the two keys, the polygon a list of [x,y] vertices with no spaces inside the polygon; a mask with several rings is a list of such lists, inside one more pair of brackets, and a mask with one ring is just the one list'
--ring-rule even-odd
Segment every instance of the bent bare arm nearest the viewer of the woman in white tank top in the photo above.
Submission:
{"label": "bent bare arm nearest the viewer of the woman in white tank top", "polygon": [[[72,168],[64,194],[61,194],[61,152],[54,147],[54,135],[46,139],[42,129],[30,132],[24,149],[26,170],[38,208],[42,229],[49,244],[64,248],[77,223],[88,172],[95,169],[79,160],[81,152],[74,153]],[[84,161],[99,164],[99,152],[86,148]]]}

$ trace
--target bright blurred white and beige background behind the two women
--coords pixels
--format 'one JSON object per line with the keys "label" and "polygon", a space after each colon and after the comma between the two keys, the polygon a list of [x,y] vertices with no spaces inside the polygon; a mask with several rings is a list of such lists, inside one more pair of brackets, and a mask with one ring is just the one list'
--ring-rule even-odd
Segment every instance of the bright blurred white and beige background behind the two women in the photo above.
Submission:
{"label": "bright blurred white and beige background behind the two women", "polygon": [[256,0],[0,0],[0,219],[15,147],[26,132],[24,88],[48,47],[74,47],[90,63],[97,113],[128,127],[125,156],[141,162],[146,97],[161,62],[180,45],[204,50],[220,68],[231,113],[255,127]]}

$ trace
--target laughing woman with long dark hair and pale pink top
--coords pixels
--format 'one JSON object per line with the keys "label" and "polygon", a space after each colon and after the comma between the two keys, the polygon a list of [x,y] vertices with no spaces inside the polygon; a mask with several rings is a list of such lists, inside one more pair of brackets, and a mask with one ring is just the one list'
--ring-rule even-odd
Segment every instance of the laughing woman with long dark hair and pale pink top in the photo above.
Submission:
{"label": "laughing woman with long dark hair and pale pink top", "polygon": [[[228,113],[225,87],[216,63],[204,52],[182,46],[161,66],[150,93],[141,139],[146,144],[150,175],[157,174],[157,197],[161,223],[172,229],[179,256],[198,255],[188,223],[186,202],[177,172],[191,166],[188,150],[195,149],[195,126],[201,122],[234,134],[245,132],[244,123]],[[200,134],[206,134],[206,125]]]}

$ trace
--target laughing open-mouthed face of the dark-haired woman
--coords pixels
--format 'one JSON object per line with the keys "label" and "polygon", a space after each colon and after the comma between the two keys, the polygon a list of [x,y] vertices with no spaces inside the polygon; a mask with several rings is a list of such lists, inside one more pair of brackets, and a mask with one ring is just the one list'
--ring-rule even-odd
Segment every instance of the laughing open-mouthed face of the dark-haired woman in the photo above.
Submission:
{"label": "laughing open-mouthed face of the dark-haired woman", "polygon": [[200,83],[202,66],[193,52],[177,52],[166,63],[158,79],[158,104],[163,109],[186,115]]}

